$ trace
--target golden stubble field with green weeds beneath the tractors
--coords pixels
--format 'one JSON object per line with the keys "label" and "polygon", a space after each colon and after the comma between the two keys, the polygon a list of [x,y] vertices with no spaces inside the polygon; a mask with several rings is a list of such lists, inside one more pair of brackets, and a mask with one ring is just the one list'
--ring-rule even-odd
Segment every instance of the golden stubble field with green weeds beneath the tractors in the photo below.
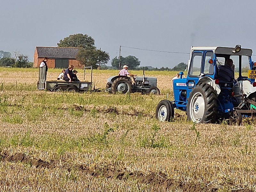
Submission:
{"label": "golden stubble field with green weeds beneath the tractors", "polygon": [[[0,191],[256,189],[255,124],[154,118],[174,72],[146,72],[155,96],[37,91],[37,70],[0,68]],[[93,71],[96,88],[116,73]]]}

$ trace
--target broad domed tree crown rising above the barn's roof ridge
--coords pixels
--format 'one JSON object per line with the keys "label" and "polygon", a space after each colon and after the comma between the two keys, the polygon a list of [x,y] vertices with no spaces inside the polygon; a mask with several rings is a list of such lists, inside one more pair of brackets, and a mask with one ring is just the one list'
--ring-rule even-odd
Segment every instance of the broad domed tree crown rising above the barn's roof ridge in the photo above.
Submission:
{"label": "broad domed tree crown rising above the barn's roof ridge", "polygon": [[63,40],[60,40],[60,43],[57,43],[58,47],[83,47],[85,49],[94,47],[94,39],[87,34],[83,35],[81,33],[70,35],[65,37]]}

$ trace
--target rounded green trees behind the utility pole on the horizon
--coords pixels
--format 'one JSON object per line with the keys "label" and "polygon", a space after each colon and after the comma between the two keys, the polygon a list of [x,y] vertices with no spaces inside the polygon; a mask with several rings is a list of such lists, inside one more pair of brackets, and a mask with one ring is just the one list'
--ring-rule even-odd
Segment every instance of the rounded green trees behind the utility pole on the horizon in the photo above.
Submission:
{"label": "rounded green trees behind the utility pole on the horizon", "polygon": [[[119,57],[113,58],[111,65],[115,68],[119,68]],[[120,68],[123,68],[124,65],[129,66],[129,69],[135,69],[140,65],[140,61],[137,57],[132,55],[127,57],[120,56]]]}

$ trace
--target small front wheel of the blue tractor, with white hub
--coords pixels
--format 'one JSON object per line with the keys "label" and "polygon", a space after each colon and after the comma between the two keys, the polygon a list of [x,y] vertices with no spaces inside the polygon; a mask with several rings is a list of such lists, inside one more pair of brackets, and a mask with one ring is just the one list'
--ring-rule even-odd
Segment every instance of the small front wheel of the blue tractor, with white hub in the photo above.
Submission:
{"label": "small front wheel of the blue tractor, with white hub", "polygon": [[161,100],[156,107],[156,119],[159,121],[170,121],[174,117],[172,103],[165,99]]}

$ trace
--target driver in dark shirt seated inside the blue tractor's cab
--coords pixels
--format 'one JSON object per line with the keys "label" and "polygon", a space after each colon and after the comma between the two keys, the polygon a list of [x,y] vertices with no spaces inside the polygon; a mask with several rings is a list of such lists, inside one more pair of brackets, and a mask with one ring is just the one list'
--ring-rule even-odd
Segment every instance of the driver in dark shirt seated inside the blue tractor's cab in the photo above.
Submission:
{"label": "driver in dark shirt seated inside the blue tractor's cab", "polygon": [[220,82],[234,82],[235,74],[232,69],[233,60],[227,59],[225,65],[220,65],[218,79]]}

